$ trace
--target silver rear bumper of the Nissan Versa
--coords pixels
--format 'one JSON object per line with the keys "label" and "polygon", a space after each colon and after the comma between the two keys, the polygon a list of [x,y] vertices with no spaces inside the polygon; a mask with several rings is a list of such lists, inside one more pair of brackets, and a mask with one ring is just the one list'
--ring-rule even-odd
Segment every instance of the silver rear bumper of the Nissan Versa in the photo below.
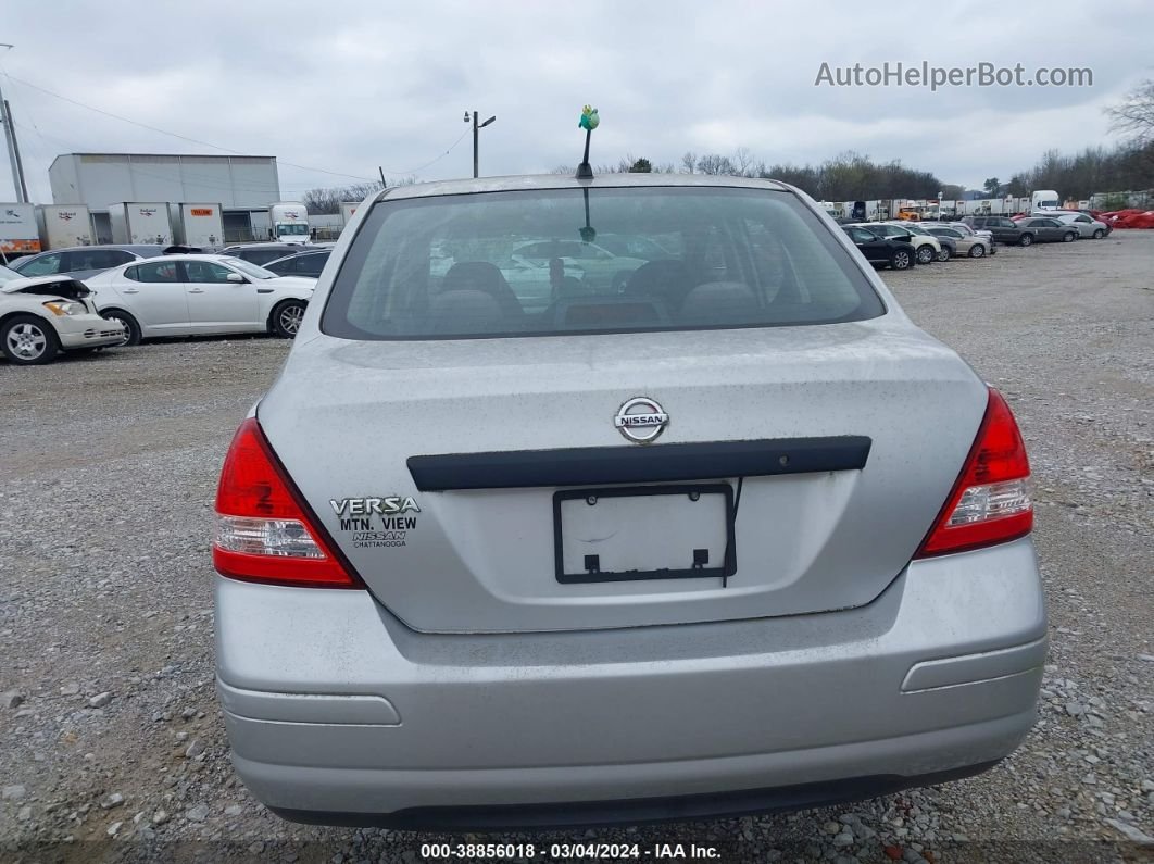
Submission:
{"label": "silver rear bumper of the Nissan Versa", "polygon": [[915,562],[868,607],[725,624],[430,636],[365,592],[216,593],[237,771],[328,822],[689,818],[936,782],[1012,752],[1047,651],[1028,539]]}

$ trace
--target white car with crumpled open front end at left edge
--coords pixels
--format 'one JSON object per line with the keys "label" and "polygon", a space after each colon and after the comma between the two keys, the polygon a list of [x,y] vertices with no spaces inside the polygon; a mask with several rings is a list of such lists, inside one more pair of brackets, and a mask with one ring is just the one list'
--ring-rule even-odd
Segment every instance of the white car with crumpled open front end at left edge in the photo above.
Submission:
{"label": "white car with crumpled open front end at left edge", "polygon": [[0,266],[0,350],[17,366],[51,362],[62,351],[125,340],[125,325],[96,313],[92,292],[68,276],[25,279]]}

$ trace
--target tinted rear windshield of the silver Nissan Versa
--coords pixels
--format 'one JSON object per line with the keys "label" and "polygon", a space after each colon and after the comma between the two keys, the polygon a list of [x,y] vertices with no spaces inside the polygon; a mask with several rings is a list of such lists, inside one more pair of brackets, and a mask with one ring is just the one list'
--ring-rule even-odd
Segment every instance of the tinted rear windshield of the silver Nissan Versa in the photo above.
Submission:
{"label": "tinted rear windshield of the silver Nissan Versa", "polygon": [[459,339],[822,324],[884,311],[846,249],[792,194],[545,189],[374,205],[321,328],[349,339]]}

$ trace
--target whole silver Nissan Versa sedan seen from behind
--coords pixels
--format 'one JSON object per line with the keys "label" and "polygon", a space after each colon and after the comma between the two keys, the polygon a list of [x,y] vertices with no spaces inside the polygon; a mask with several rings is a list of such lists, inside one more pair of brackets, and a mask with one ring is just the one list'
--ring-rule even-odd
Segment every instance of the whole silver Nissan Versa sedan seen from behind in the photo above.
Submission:
{"label": "whole silver Nissan Versa sedan seen from behind", "polygon": [[[651,251],[591,278],[601,233]],[[1003,397],[796,189],[387,189],[224,463],[233,762],[288,819],[442,829],[976,774],[1035,719],[1028,476]]]}

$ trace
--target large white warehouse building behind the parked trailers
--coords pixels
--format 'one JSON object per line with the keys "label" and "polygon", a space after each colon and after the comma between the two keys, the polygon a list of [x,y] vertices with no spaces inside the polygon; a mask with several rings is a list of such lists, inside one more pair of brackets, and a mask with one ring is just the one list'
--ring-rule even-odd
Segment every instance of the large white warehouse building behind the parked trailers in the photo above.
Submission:
{"label": "large white warehouse building behind the parked trailers", "polygon": [[275,156],[63,153],[48,167],[54,204],[82,204],[95,241],[112,242],[108,209],[122,202],[213,203],[224,241],[265,239],[269,205],[280,201]]}

